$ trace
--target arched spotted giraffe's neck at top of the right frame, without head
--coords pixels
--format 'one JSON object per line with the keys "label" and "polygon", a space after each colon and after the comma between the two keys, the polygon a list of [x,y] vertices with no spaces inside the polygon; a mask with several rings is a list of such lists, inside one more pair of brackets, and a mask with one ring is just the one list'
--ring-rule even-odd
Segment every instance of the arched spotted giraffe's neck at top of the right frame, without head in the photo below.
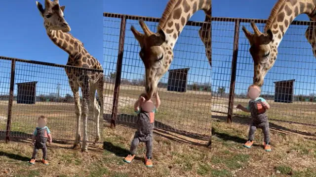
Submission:
{"label": "arched spotted giraffe's neck at top of the right frame, without head", "polygon": [[[280,1],[283,1],[280,3]],[[300,14],[311,16],[316,7],[315,0],[279,0],[273,8],[265,30],[271,29],[273,44],[279,46],[293,20]],[[276,13],[275,13],[276,12]],[[270,21],[270,22],[269,22]]]}

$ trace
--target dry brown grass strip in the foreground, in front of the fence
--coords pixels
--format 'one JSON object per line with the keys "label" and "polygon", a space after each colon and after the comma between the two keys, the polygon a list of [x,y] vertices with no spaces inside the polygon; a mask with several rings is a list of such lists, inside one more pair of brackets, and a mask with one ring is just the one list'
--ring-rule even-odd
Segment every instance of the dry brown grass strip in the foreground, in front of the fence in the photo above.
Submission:
{"label": "dry brown grass strip in the foreground, in front of the fence", "polygon": [[[108,123],[106,123],[109,126]],[[246,149],[247,125],[223,121],[213,123],[212,149],[192,145],[205,144],[179,135],[155,131],[154,168],[143,164],[146,151],[141,144],[138,158],[131,164],[122,159],[128,153],[134,129],[118,125],[116,130],[104,129],[105,150],[90,148],[89,153],[70,149],[70,145],[49,145],[50,165],[40,162],[28,165],[32,154],[29,141],[0,143],[0,163],[3,177],[257,177],[316,176],[316,143],[298,135],[271,130],[272,148],[264,152],[261,131],[256,133],[256,146]],[[191,142],[191,144],[190,144]],[[41,152],[39,153],[39,156]],[[290,170],[289,170],[290,169]],[[279,173],[279,174],[278,174]]]}

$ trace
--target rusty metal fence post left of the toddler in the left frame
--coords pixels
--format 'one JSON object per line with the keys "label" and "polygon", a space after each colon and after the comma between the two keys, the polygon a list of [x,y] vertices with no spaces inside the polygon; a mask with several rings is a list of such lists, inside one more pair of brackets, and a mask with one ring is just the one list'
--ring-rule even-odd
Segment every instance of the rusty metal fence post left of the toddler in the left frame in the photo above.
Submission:
{"label": "rusty metal fence post left of the toddler in the left frame", "polygon": [[9,143],[9,141],[10,141],[13,91],[14,91],[14,76],[15,76],[15,59],[12,59],[12,61],[11,61],[11,76],[10,76],[10,95],[9,95],[9,104],[8,104],[8,119],[6,121],[6,131],[5,131],[5,143]]}

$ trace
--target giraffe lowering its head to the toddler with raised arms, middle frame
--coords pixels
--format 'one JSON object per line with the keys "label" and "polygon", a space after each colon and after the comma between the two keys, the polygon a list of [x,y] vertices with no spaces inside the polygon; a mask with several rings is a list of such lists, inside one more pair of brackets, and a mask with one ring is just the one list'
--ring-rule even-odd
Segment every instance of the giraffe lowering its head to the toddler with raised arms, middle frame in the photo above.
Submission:
{"label": "giraffe lowering its head to the toddler with raised arms, middle frame", "polygon": [[[170,0],[159,21],[157,33],[152,32],[143,20],[139,24],[144,34],[131,27],[141,47],[139,55],[145,65],[148,99],[157,91],[159,80],[169,69],[173,48],[186,23],[197,10],[203,10],[205,22],[211,22],[211,5],[211,0]],[[205,45],[206,57],[211,65],[210,23],[203,24],[198,34]]]}

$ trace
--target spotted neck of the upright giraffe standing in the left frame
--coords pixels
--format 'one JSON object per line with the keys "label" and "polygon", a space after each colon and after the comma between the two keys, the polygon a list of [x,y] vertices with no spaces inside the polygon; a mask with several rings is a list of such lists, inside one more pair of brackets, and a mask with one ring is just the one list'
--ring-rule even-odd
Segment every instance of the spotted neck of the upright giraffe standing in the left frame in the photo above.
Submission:
{"label": "spotted neck of the upright giraffe standing in the left frame", "polygon": [[70,56],[75,57],[81,50],[83,44],[70,33],[61,30],[46,30],[48,37],[55,45],[67,52]]}

